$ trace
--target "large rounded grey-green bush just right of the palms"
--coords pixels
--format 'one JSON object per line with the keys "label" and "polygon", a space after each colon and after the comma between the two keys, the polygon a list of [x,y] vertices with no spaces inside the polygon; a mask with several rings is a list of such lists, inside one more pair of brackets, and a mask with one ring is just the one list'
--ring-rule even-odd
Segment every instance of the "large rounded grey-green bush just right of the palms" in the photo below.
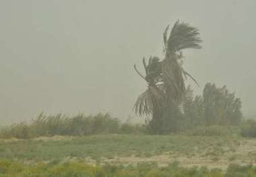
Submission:
{"label": "large rounded grey-green bush just right of the palms", "polygon": [[[241,100],[226,86],[206,83],[202,96],[193,96],[191,87],[185,90],[179,116],[169,120],[174,127],[169,131],[184,131],[197,127],[238,126],[243,120]],[[176,125],[175,125],[176,123]]]}

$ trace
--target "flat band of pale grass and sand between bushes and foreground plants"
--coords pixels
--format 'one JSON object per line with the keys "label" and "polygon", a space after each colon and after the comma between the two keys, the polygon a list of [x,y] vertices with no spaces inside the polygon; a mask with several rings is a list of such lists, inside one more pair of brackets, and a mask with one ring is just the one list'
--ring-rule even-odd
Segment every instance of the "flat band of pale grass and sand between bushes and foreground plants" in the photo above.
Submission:
{"label": "flat band of pale grass and sand between bushes and foreground plants", "polygon": [[87,137],[41,137],[0,140],[0,159],[34,164],[70,162],[135,165],[156,163],[160,167],[206,166],[226,170],[230,164],[256,165],[256,139],[185,135],[92,135]]}

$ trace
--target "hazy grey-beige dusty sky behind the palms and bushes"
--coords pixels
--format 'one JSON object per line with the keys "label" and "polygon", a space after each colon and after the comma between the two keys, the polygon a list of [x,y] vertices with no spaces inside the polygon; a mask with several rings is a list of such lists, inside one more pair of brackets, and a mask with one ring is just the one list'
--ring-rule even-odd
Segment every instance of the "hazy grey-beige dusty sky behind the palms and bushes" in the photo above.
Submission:
{"label": "hazy grey-beige dusty sky behind the palms and bushes", "polygon": [[185,51],[199,81],[236,92],[245,114],[256,100],[256,1],[0,0],[0,120],[38,113],[133,115],[146,83],[133,70],[162,57],[162,32],[178,19],[199,28]]}

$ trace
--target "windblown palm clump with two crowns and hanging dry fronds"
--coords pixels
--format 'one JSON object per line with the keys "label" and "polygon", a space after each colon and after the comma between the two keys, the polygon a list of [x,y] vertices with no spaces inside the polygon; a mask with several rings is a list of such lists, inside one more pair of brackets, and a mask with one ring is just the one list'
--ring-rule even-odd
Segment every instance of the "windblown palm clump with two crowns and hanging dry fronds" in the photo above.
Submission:
{"label": "windblown palm clump with two crowns and hanging dry fronds", "polygon": [[[146,75],[143,76],[134,65],[135,71],[148,83],[146,92],[141,94],[135,102],[135,113],[146,115],[149,128],[154,133],[160,133],[163,125],[163,115],[166,108],[179,104],[185,92],[185,79],[191,77],[182,67],[183,55],[181,50],[186,48],[201,48],[199,30],[186,23],[177,21],[170,35],[167,26],[164,31],[164,59],[150,57],[148,64],[143,58]],[[197,83],[197,81],[195,81]],[[150,119],[151,118],[151,119]]]}

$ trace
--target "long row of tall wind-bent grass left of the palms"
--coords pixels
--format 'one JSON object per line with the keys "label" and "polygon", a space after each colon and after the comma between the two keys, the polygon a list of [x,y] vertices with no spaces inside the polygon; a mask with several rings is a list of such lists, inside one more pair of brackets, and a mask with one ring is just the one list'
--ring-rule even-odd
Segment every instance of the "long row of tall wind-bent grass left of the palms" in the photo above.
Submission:
{"label": "long row of tall wind-bent grass left of the palms", "polygon": [[1,129],[0,138],[29,139],[54,135],[84,136],[108,133],[141,133],[142,129],[143,127],[140,125],[122,124],[118,118],[113,118],[108,113],[88,116],[84,114],[47,116],[41,113],[30,122],[20,122]]}

